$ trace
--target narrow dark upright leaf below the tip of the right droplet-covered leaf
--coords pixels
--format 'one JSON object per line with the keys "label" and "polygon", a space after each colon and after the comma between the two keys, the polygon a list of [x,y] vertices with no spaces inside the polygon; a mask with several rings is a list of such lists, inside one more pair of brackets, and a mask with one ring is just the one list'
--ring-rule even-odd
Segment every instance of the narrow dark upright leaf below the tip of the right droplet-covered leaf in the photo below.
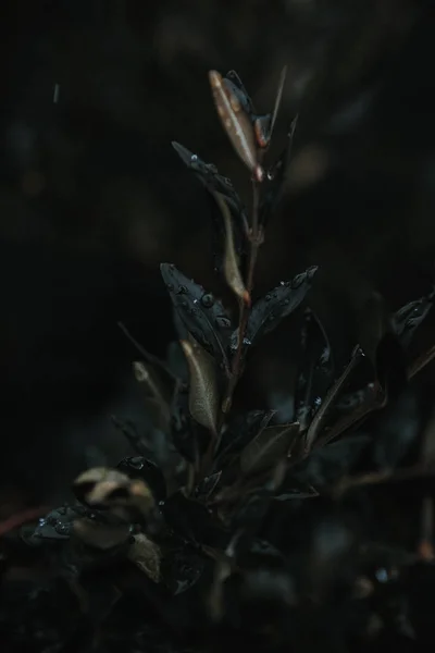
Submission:
{"label": "narrow dark upright leaf below the tip of the right droplet-covered leaf", "polygon": [[331,387],[335,372],[333,352],[326,332],[310,308],[303,313],[299,352],[295,406],[300,430],[306,431],[313,411]]}

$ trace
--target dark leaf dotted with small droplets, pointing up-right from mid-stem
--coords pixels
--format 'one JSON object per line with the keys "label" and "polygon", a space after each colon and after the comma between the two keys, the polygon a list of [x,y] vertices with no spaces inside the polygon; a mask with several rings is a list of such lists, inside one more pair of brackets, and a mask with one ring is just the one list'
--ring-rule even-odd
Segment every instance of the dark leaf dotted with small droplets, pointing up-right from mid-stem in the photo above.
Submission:
{"label": "dark leaf dotted with small droplets, pointing up-right from mid-stem", "polygon": [[[282,282],[264,297],[256,301],[249,316],[246,338],[253,344],[260,337],[270,333],[279,322],[298,308],[311,287],[311,280],[318,268],[308,268],[291,282]],[[237,340],[237,330],[232,335],[232,346]]]}

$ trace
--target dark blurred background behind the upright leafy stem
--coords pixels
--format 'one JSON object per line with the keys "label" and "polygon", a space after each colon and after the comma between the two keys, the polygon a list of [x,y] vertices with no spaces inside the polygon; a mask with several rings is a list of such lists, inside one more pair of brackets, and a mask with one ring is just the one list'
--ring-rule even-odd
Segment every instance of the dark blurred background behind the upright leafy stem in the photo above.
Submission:
{"label": "dark blurred background behind the upright leafy stem", "polygon": [[[222,291],[206,197],[171,148],[216,164],[249,201],[210,69],[236,69],[266,112],[287,64],[272,153],[299,114],[258,292],[320,266],[310,304],[343,364],[373,289],[391,310],[431,289],[431,1],[3,0],[0,14],[0,516],[58,500],[125,451],[110,415],[139,418],[140,396],[116,324],[165,355],[159,263]],[[241,402],[285,395],[290,335],[256,354]],[[432,377],[419,381],[428,402]]]}

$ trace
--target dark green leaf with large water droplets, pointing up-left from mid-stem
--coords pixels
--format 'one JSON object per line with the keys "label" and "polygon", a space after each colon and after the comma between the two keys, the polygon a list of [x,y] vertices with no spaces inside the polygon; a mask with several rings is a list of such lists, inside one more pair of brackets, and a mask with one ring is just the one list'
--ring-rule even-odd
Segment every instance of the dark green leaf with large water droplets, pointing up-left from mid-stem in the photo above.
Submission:
{"label": "dark green leaf with large water droplets, pointing up-left from mid-stem", "polygon": [[228,374],[227,350],[232,324],[221,301],[211,293],[206,293],[202,286],[185,276],[175,266],[162,263],[160,270],[187,331]]}

